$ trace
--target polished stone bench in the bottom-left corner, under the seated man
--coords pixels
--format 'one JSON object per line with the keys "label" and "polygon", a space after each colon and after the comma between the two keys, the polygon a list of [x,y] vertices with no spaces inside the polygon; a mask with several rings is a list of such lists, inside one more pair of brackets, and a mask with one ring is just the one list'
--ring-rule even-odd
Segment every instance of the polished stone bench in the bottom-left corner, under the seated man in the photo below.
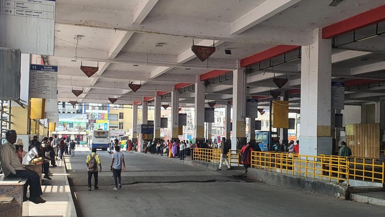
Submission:
{"label": "polished stone bench in the bottom-left corner, under the seated man", "polygon": [[22,217],[23,188],[27,178],[0,176],[0,216]]}

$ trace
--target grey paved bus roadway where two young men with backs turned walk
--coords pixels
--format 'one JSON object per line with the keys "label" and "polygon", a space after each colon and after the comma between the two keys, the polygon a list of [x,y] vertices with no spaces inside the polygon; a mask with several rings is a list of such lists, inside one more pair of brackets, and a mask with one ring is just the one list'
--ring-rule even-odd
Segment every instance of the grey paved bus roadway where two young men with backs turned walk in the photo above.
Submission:
{"label": "grey paved bus roadway where two young men with backs turned walk", "polygon": [[[100,154],[102,164],[109,167],[109,154]],[[86,173],[86,155],[79,152],[67,162],[75,183],[81,183],[79,179]],[[141,177],[143,182],[112,190],[113,178],[108,177],[110,172],[105,172],[107,176],[101,177],[105,179],[105,185],[100,185],[99,190],[89,192],[87,186],[71,186],[79,217],[383,216],[383,207],[375,205],[266,183],[248,183],[233,177],[239,175],[239,171],[213,171],[134,153],[124,153],[124,156],[129,171],[124,173],[122,180]],[[180,176],[175,176],[178,172]],[[170,174],[173,176],[168,176]],[[198,182],[206,177],[213,181]],[[215,177],[221,177],[221,180]]]}

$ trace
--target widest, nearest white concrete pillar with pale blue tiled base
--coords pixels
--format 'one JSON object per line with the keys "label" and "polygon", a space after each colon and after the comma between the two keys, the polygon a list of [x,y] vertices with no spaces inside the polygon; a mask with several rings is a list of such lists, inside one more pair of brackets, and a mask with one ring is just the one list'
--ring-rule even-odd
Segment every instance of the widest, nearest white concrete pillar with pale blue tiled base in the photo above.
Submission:
{"label": "widest, nearest white concrete pillar with pale blue tiled base", "polygon": [[302,46],[300,154],[332,154],[331,40],[313,30],[313,44]]}

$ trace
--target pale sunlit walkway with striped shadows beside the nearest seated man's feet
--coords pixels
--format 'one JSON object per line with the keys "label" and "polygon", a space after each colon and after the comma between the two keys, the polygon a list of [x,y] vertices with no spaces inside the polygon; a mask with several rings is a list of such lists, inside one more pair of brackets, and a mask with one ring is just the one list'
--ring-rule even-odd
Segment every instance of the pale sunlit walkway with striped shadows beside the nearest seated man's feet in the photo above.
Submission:
{"label": "pale sunlit walkway with striped shadows beside the nearest seated man's feet", "polygon": [[35,204],[32,202],[23,203],[23,216],[33,217],[77,217],[74,201],[64,167],[64,161],[57,161],[57,167],[51,167],[50,171],[54,176],[52,180],[42,180],[42,198],[47,202]]}

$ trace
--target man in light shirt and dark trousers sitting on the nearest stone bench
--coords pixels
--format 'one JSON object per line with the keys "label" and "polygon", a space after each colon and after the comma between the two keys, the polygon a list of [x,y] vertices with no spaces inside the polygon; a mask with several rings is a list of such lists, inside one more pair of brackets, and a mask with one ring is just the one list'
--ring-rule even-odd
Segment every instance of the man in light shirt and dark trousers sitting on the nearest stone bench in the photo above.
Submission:
{"label": "man in light shirt and dark trousers sitting on the nearest stone bench", "polygon": [[[40,186],[40,176],[32,170],[25,169],[20,159],[15,153],[17,134],[16,131],[10,130],[5,133],[7,140],[0,148],[0,161],[2,170],[7,177],[25,177],[28,178],[23,189],[23,202],[29,200],[33,203],[45,203],[45,200],[40,197],[42,195],[42,187]],[[29,199],[27,197],[27,187],[29,185]]]}

